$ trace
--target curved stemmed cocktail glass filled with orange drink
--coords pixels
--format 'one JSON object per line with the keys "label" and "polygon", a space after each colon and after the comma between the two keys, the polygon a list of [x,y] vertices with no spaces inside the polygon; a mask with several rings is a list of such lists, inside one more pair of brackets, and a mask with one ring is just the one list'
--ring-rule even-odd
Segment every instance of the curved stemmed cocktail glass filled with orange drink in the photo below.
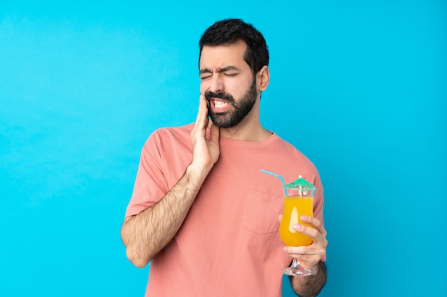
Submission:
{"label": "curved stemmed cocktail glass filled with orange drink", "polygon": [[[284,244],[287,246],[308,246],[312,244],[311,237],[293,229],[294,224],[303,224],[301,216],[313,217],[313,196],[316,188],[303,188],[302,186],[285,187],[287,197],[284,197],[283,218],[279,226],[279,234]],[[303,269],[296,259],[292,260],[290,267],[283,269],[283,273],[288,276],[308,276],[312,271]]]}

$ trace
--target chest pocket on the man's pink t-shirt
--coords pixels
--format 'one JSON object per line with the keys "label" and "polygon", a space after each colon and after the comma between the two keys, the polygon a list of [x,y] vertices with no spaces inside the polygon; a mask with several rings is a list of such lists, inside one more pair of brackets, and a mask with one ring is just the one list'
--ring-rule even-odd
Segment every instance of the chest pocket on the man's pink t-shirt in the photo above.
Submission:
{"label": "chest pocket on the man's pink t-shirt", "polygon": [[242,226],[256,234],[277,232],[282,207],[283,197],[252,189],[246,197]]}

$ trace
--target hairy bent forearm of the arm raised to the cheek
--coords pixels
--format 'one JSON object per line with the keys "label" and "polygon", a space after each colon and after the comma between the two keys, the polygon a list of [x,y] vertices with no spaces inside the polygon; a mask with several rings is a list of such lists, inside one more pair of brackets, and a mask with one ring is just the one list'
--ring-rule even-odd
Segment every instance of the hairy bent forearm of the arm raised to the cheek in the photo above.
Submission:
{"label": "hairy bent forearm of the arm raised to the cheek", "polygon": [[187,169],[157,204],[124,220],[121,239],[126,256],[135,266],[146,266],[179,231],[202,182],[194,180]]}

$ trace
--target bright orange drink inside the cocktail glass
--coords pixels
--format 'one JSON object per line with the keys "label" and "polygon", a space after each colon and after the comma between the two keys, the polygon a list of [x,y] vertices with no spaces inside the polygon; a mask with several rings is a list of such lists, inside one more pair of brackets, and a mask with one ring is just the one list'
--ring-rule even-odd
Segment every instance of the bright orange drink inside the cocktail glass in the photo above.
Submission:
{"label": "bright orange drink inside the cocktail glass", "polygon": [[279,235],[286,246],[308,246],[313,240],[298,231],[293,230],[294,224],[304,224],[300,217],[313,216],[313,197],[291,196],[284,198],[283,219],[279,226]]}

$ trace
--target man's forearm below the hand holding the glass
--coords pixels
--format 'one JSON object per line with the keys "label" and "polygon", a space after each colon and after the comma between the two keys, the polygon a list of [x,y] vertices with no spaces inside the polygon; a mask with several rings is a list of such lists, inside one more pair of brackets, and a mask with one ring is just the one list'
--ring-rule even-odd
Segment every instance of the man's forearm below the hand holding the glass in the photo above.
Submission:
{"label": "man's forearm below the hand holding the glass", "polygon": [[310,276],[291,276],[290,282],[293,291],[300,297],[314,297],[320,293],[326,284],[326,265],[324,262],[318,262],[312,269]]}

